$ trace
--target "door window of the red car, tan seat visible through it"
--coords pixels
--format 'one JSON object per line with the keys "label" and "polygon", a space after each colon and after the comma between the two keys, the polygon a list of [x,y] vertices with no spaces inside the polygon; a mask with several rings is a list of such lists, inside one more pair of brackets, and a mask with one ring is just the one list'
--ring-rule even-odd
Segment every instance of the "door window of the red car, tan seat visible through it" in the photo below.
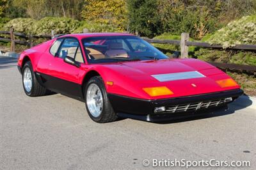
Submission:
{"label": "door window of the red car, tan seat visible through it", "polygon": [[59,58],[65,58],[65,56],[69,56],[80,63],[84,63],[79,42],[75,38],[66,38],[61,45]]}

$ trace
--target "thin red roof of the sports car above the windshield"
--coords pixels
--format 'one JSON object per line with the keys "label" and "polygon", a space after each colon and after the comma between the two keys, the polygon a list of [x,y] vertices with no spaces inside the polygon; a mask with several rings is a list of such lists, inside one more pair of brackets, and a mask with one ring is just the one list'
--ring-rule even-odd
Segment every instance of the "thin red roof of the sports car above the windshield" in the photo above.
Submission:
{"label": "thin red roof of the sports car above the windshield", "polygon": [[83,38],[96,37],[96,36],[134,36],[134,35],[131,35],[129,33],[81,33],[81,34],[63,35],[59,37],[67,37],[67,36],[76,37],[77,39],[81,40]]}

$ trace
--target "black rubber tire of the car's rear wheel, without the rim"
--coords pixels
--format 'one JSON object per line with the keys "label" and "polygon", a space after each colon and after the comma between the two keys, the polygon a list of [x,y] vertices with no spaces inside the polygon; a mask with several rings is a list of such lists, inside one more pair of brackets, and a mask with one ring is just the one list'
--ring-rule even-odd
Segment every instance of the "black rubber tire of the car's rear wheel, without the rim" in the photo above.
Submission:
{"label": "black rubber tire of the car's rear wheel, without the rim", "polygon": [[[27,91],[25,86],[24,86],[24,70],[26,68],[29,68],[30,72],[31,72],[31,77],[32,77],[32,86],[31,86],[31,90]],[[39,84],[39,82],[36,80],[35,77],[35,73],[33,72],[33,67],[31,65],[31,62],[28,61],[25,63],[25,65],[22,68],[22,85],[23,85],[23,89],[26,93],[26,95],[28,95],[29,97],[39,97],[39,96],[44,96],[47,93],[47,89],[44,88],[43,86],[41,86]]]}

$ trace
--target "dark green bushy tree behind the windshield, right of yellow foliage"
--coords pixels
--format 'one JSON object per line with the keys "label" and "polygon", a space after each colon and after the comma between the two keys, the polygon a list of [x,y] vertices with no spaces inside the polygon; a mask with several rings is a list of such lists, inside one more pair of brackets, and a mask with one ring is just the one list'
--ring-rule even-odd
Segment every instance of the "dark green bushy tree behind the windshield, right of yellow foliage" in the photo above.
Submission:
{"label": "dark green bushy tree behind the windshield, right of yellow foliage", "polygon": [[129,31],[153,37],[162,32],[155,0],[127,0]]}

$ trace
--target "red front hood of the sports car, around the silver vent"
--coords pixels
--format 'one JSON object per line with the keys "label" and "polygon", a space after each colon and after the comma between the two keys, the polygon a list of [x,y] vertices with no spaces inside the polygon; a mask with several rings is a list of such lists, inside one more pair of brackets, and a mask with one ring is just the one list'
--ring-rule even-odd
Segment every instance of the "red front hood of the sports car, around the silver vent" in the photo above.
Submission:
{"label": "red front hood of the sports car, around the silver vent", "polygon": [[[142,88],[157,86],[166,86],[171,91],[173,91],[173,95],[150,97],[151,99],[198,95],[203,93],[212,93],[239,88],[239,86],[232,88],[221,88],[216,83],[216,81],[220,79],[228,79],[230,77],[218,68],[197,59],[163,59],[159,61],[135,62],[132,61],[122,62],[115,65],[108,64],[105,66],[115,71],[120,76],[124,76],[122,79],[127,82],[122,82],[122,84],[120,84],[120,87],[122,86],[122,88],[132,91],[134,94],[129,95],[131,97],[146,98],[145,91],[143,91]],[[175,75],[174,77],[177,77],[176,74],[173,73],[178,73],[179,79],[174,78],[161,81],[156,78],[156,75],[160,77],[170,75],[171,78],[173,75]],[[191,73],[196,73],[196,75],[199,76],[193,78],[190,78],[189,76],[186,77],[186,74],[190,75]],[[184,75],[184,78],[182,77],[183,74],[186,75]],[[149,96],[147,95],[147,98],[148,97]]]}

